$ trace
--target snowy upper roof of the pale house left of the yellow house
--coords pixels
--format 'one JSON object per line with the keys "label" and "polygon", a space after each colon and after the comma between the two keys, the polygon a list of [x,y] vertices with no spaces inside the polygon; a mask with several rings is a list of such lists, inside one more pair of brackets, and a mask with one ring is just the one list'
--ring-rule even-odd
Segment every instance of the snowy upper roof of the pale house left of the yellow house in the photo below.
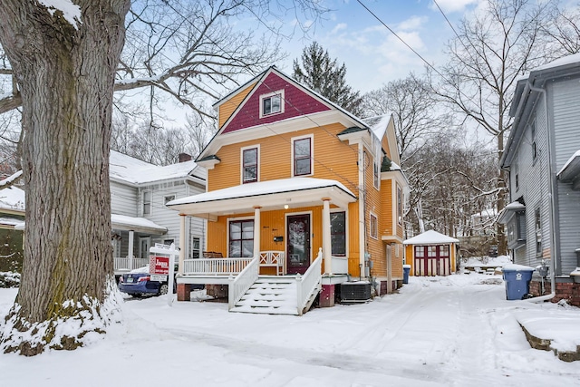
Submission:
{"label": "snowy upper roof of the pale house left of the yellow house", "polygon": [[193,160],[160,167],[124,155],[115,150],[111,150],[111,159],[109,162],[111,179],[120,179],[131,184],[145,184],[158,180],[183,179],[197,167],[196,162]]}

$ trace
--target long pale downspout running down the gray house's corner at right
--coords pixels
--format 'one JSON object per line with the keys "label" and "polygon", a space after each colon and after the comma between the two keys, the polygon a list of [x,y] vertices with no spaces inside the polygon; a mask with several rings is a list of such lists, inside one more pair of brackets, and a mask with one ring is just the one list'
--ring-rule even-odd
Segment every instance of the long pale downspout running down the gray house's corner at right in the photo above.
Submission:
{"label": "long pale downspout running down the gray house's corner at right", "polygon": [[531,301],[533,303],[540,303],[544,301],[549,301],[556,296],[556,256],[557,256],[557,246],[556,246],[556,198],[554,197],[554,185],[556,184],[554,181],[554,162],[552,160],[554,152],[552,151],[552,131],[550,131],[550,118],[548,117],[547,111],[547,94],[546,90],[538,87],[534,87],[527,81],[527,85],[529,86],[529,90],[533,92],[541,92],[544,96],[544,111],[546,111],[546,130],[547,130],[547,150],[548,150],[548,173],[550,176],[550,184],[549,188],[549,195],[550,195],[550,243],[552,245],[551,250],[553,252],[552,258],[550,259],[550,290],[552,293],[549,295],[540,295],[538,297],[528,298],[527,301]]}

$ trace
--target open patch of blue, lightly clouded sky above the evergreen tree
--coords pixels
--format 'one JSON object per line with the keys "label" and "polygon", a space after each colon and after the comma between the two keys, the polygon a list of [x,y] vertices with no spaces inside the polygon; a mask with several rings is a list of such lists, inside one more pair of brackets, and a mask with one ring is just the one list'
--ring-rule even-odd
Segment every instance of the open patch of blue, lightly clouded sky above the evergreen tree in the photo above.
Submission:
{"label": "open patch of blue, lightly clouded sky above the evergreen tree", "polygon": [[[442,49],[454,33],[432,0],[361,1],[427,61],[444,63]],[[438,0],[454,25],[479,3],[480,0]],[[292,73],[292,61],[313,40],[322,44],[338,63],[346,64],[347,81],[361,92],[404,78],[410,72],[423,72],[420,58],[356,0],[327,0],[324,5],[333,11],[312,27],[310,36],[304,38],[296,32],[285,43],[289,56],[279,63],[285,73]]]}

